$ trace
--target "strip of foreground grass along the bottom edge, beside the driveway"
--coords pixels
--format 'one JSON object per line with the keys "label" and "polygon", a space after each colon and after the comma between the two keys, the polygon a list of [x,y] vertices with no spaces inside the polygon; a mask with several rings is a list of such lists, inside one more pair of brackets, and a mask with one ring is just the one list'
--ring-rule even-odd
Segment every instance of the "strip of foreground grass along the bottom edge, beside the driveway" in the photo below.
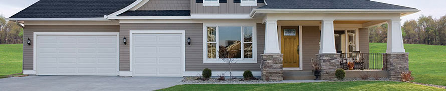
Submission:
{"label": "strip of foreground grass along the bottom edge, beside the driveway", "polygon": [[161,90],[446,90],[405,82],[354,81],[281,84],[186,84]]}

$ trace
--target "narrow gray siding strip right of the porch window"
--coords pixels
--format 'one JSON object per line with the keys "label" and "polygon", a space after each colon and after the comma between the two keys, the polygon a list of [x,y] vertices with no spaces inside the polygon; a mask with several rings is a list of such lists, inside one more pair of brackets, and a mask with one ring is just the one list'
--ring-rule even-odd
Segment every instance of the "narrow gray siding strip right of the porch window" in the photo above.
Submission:
{"label": "narrow gray siding strip right of the porch window", "polygon": [[369,31],[368,28],[359,29],[359,51],[369,53]]}

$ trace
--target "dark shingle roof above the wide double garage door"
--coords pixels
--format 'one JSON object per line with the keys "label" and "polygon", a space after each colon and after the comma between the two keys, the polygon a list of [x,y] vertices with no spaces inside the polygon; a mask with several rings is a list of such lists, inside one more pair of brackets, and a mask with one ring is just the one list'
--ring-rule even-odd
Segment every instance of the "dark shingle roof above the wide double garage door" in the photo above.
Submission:
{"label": "dark shingle roof above the wide double garage door", "polygon": [[114,13],[136,0],[40,0],[10,18],[93,18]]}

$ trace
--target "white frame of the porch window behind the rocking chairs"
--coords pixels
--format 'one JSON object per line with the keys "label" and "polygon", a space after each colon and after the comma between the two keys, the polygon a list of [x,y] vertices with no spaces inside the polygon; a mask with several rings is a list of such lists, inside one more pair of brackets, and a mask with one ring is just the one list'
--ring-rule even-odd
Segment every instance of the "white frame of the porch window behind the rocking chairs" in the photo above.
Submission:
{"label": "white frame of the porch window behind the rocking chairs", "polygon": [[[345,53],[349,53],[348,52],[348,31],[355,31],[355,43],[356,43],[356,50],[354,51],[359,51],[359,29],[358,28],[335,28],[335,31],[344,31],[345,32]],[[351,52],[350,52],[351,53]]]}

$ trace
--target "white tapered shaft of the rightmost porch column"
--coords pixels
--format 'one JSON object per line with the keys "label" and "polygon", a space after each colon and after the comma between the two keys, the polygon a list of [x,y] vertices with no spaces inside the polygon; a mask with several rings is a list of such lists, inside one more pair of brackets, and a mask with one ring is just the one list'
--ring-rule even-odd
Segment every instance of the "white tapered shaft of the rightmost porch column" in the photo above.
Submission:
{"label": "white tapered shaft of the rightmost porch column", "polygon": [[405,53],[402,39],[401,20],[388,20],[387,53]]}

